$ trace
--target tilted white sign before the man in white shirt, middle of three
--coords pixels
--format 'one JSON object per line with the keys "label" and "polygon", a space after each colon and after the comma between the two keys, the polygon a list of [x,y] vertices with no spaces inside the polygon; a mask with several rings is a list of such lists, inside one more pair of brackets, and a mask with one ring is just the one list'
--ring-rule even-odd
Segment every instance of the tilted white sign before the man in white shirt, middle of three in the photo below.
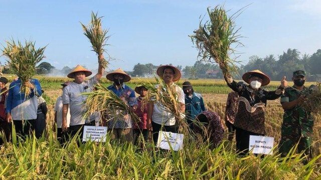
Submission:
{"label": "tilted white sign before the man in white shirt, middle of three", "polygon": [[158,132],[157,147],[162,149],[180,150],[183,148],[184,134],[178,134],[173,132]]}

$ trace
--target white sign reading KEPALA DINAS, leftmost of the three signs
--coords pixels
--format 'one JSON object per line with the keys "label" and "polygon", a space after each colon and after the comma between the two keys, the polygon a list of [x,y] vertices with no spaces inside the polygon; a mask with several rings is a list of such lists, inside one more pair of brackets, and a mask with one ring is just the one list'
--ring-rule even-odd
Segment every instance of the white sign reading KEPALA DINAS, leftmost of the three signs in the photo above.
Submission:
{"label": "white sign reading KEPALA DINAS, leftmost of the three signs", "polygon": [[105,142],[107,135],[107,127],[104,126],[84,126],[84,132],[82,136],[82,141],[95,141],[95,142]]}

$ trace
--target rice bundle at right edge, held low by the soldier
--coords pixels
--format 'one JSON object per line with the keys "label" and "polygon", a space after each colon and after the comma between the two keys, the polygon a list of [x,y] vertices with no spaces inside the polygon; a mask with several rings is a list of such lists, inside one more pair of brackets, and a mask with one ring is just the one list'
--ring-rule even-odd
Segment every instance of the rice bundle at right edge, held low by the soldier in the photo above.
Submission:
{"label": "rice bundle at right edge, held low by the soldier", "polygon": [[311,85],[303,94],[306,94],[306,101],[302,104],[302,107],[309,112],[320,113],[321,83],[318,82],[316,85]]}

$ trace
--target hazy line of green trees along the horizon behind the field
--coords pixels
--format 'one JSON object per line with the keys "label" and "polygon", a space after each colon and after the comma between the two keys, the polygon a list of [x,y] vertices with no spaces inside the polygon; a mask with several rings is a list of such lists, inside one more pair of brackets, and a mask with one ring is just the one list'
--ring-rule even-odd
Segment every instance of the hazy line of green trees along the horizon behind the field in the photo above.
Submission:
{"label": "hazy line of green trees along the horizon behind the field", "polygon": [[[153,77],[158,66],[152,63],[137,63],[132,71],[126,71],[126,73],[133,77]],[[183,68],[181,65],[178,65],[177,68],[183,72],[183,78],[186,79],[223,78],[217,64],[196,61],[193,66],[185,66]],[[42,62],[37,66],[37,73],[52,75],[54,72],[56,75],[66,76],[72,69],[65,66],[59,70],[48,62]],[[238,65],[237,73],[234,76],[237,79],[241,79],[245,72],[255,69],[264,72],[272,80],[279,80],[283,76],[290,78],[294,70],[303,70],[311,81],[319,81],[321,79],[321,49],[318,49],[312,55],[302,55],[297,49],[288,49],[278,57],[274,55],[267,55],[265,57],[251,56],[246,65]],[[6,66],[3,67],[2,72],[4,74],[11,73]]]}

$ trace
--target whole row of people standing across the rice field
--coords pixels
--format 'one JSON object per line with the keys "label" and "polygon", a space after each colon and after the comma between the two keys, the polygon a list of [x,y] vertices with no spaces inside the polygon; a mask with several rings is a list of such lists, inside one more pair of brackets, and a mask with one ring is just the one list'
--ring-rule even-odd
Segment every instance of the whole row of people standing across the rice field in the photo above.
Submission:
{"label": "whole row of people standing across the rice field", "polygon": [[[107,89],[115,93],[128,106],[129,111],[139,117],[140,121],[133,122],[128,112],[117,110],[114,114],[104,115],[102,112],[96,112],[85,117],[87,96],[83,93],[95,90],[94,86],[103,76],[103,72],[104,68],[99,66],[98,73],[86,80],[92,72],[78,65],[67,75],[73,80],[61,84],[62,96],[58,97],[54,106],[57,138],[61,143],[75,135],[82,137],[84,125],[107,126],[113,139],[135,144],[138,143],[140,135],[146,141],[150,131],[152,131],[154,143],[157,142],[158,132],[161,130],[178,132],[177,117],[174,113],[168,111],[162,102],[142,103],[148,89],[140,85],[133,90],[125,85],[125,82],[130,81],[131,78],[121,69],[106,75],[106,78],[113,82]],[[204,122],[208,131],[203,135],[213,139],[214,144],[218,144],[224,133],[221,119],[216,112],[206,110],[202,95],[194,92],[192,84],[188,81],[183,83],[182,88],[175,83],[181,78],[181,72],[174,66],[160,66],[156,73],[168,87],[175,89],[177,109],[182,117],[185,117],[189,128],[195,132],[201,132],[201,128],[195,125],[195,122]],[[225,124],[229,132],[228,139],[232,140],[235,132],[236,148],[241,155],[248,152],[250,135],[265,135],[267,100],[281,97],[284,116],[279,152],[285,156],[298,143],[298,150],[311,156],[313,118],[311,112],[301,106],[306,100],[302,95],[302,91],[306,90],[305,77],[304,71],[295,71],[292,77],[293,87],[288,87],[283,77],[280,86],[274,91],[262,88],[270,83],[270,78],[259,70],[245,73],[242,76],[245,83],[224,77],[227,85],[233,90],[228,95],[226,104]],[[8,79],[0,77],[1,130],[9,138],[9,129],[13,121],[17,134],[26,136],[36,130],[37,136],[40,137],[46,125],[47,108],[41,97],[43,91],[39,81],[31,79],[28,82],[21,82],[19,78],[10,84],[9,90],[6,87],[7,83]],[[21,85],[31,90],[27,98],[21,92]],[[135,96],[135,92],[139,94],[138,97]],[[40,130],[37,131],[37,127]]]}

